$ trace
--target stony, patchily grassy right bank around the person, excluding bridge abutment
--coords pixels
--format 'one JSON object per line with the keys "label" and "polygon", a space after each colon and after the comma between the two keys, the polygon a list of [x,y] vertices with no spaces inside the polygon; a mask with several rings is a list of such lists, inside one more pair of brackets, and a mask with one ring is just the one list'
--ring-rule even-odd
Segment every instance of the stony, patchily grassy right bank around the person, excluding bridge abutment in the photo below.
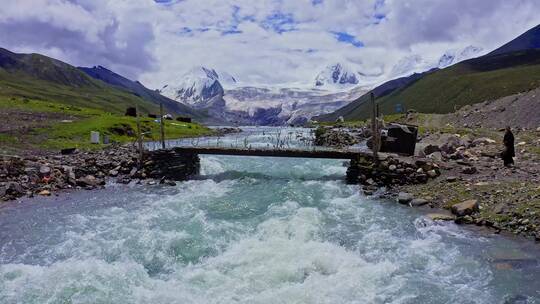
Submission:
{"label": "stony, patchily grassy right bank around the person, excluding bridge abutment", "polygon": [[[535,131],[515,132],[516,165],[499,155],[501,135],[431,134],[419,154],[439,166],[441,176],[426,184],[400,185],[394,193],[450,210],[460,224],[493,227],[540,241],[540,140]],[[406,203],[406,202],[405,202]]]}

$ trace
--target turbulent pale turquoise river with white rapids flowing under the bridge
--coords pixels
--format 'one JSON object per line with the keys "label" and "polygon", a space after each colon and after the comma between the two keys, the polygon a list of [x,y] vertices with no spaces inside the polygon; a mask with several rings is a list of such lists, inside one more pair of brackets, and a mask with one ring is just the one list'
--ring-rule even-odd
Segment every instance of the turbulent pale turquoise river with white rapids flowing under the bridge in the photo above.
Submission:
{"label": "turbulent pale turquoise river with white rapids flowing under the bridge", "polygon": [[538,245],[367,198],[342,161],[201,164],[4,205],[0,303],[540,303]]}

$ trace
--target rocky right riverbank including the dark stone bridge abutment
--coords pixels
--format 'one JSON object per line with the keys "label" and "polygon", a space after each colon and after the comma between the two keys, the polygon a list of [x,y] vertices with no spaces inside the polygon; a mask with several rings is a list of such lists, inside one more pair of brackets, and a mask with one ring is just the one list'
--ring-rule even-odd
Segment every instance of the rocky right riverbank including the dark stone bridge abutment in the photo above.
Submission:
{"label": "rocky right riverbank including the dark stone bridge abutment", "polygon": [[[487,226],[540,241],[540,130],[514,131],[516,165],[506,168],[500,159],[503,132],[448,129],[424,131],[413,157],[380,154],[377,162],[352,161],[348,182],[362,185],[367,195],[383,188],[383,196],[400,204],[432,208],[429,217],[434,220]],[[333,135],[321,138],[365,133],[362,128],[326,132]]]}

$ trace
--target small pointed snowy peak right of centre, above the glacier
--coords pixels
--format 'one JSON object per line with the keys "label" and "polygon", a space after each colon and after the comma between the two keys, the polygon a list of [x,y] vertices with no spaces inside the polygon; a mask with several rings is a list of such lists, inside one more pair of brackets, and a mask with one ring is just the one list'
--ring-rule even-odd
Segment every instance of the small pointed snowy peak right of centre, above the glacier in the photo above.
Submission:
{"label": "small pointed snowy peak right of centre, above the glacier", "polygon": [[315,86],[351,88],[360,82],[359,77],[358,71],[355,71],[350,66],[337,63],[327,66],[315,77]]}

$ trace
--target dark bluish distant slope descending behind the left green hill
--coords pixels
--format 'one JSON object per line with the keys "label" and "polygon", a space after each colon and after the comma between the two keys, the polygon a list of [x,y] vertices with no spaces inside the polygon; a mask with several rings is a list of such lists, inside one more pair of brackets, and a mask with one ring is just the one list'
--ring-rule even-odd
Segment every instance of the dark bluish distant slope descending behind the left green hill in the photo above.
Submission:
{"label": "dark bluish distant slope descending behind the left green hill", "polygon": [[92,78],[101,80],[105,83],[131,92],[136,96],[139,96],[144,100],[147,100],[156,105],[162,103],[168,111],[172,111],[174,114],[187,115],[196,120],[208,119],[206,114],[196,111],[195,109],[192,109],[191,107],[186,106],[180,102],[169,99],[156,91],[146,88],[138,81],[131,81],[102,66],[95,66],[93,68],[79,67],[79,70],[83,71]]}

